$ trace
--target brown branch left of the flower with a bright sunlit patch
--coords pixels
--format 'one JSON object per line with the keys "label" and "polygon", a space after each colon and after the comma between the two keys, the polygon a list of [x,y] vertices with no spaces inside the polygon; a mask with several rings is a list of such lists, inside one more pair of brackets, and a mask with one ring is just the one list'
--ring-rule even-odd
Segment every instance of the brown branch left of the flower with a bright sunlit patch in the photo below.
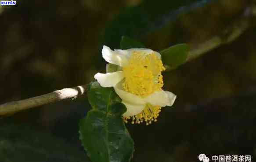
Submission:
{"label": "brown branch left of the flower with a bright sunlit patch", "polygon": [[77,96],[86,92],[87,85],[79,85],[72,88],[64,88],[44,95],[23,99],[14,102],[7,102],[0,105],[0,116],[17,113],[21,110],[47,105],[63,99],[76,99]]}

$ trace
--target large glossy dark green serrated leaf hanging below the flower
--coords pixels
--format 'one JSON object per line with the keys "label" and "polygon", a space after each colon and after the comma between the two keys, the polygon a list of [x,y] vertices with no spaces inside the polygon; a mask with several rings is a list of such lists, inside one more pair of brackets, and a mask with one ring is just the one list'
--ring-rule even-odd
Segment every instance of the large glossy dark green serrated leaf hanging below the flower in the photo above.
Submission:
{"label": "large glossy dark green serrated leaf hanging below the flower", "polygon": [[80,140],[92,162],[130,162],[134,143],[121,115],[126,107],[113,88],[103,88],[97,81],[88,86],[88,100],[93,107],[80,120]]}

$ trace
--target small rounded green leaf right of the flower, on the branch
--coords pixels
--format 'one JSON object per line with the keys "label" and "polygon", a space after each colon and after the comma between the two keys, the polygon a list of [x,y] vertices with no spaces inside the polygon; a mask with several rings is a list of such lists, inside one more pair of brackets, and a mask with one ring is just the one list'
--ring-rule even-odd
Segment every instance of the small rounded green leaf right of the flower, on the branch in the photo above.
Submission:
{"label": "small rounded green leaf right of the flower, on the branch", "polygon": [[187,44],[177,44],[162,50],[160,54],[162,56],[163,64],[167,65],[169,70],[177,68],[186,62],[188,49]]}

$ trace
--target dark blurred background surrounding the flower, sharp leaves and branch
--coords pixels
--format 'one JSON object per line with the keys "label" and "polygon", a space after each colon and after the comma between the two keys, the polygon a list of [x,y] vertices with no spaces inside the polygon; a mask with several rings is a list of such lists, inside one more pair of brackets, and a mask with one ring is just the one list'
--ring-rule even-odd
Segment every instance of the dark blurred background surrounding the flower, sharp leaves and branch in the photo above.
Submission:
{"label": "dark blurred background surrounding the flower, sharp leaves and branch", "polygon": [[[190,61],[165,72],[164,88],[178,96],[174,106],[163,109],[157,123],[126,125],[135,142],[132,162],[198,162],[201,153],[252,155],[253,161],[255,8],[255,0],[0,6],[0,103],[89,83],[105,72],[102,45],[118,49],[122,35],[156,51],[188,43],[203,55],[191,52]],[[78,134],[89,109],[85,95],[0,117],[0,162],[90,162]]]}

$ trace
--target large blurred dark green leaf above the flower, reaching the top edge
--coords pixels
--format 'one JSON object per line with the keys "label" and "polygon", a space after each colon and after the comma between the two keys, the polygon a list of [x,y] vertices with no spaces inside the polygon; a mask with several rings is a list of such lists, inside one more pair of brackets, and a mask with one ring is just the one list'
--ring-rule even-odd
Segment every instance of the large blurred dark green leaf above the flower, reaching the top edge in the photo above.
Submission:
{"label": "large blurred dark green leaf above the flower, reaching the top edge", "polygon": [[[154,32],[173,23],[188,11],[200,8],[212,0],[155,0],[143,1],[138,6],[129,7],[111,21],[105,31],[104,43],[119,49],[119,42],[123,35],[139,39],[149,32]],[[184,7],[186,6],[187,7]]]}

